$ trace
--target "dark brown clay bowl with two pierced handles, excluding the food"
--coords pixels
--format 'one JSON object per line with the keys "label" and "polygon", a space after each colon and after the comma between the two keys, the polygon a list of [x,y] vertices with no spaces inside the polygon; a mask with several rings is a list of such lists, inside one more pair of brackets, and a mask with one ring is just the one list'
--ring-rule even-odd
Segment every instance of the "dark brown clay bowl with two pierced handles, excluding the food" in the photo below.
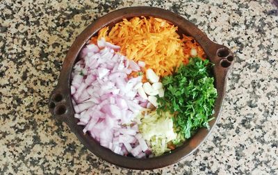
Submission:
{"label": "dark brown clay bowl with two pierced handles, excluding the food", "polygon": [[[215,64],[213,67],[213,74],[215,77],[215,88],[217,88],[218,91],[218,98],[215,101],[214,108],[215,119],[209,122],[211,129],[207,130],[206,128],[200,128],[197,133],[195,133],[195,135],[187,140],[181,147],[178,147],[171,153],[165,153],[162,156],[154,158],[131,158],[120,156],[105,147],[101,147],[97,141],[90,137],[90,135],[84,135],[82,131],[83,126],[76,124],[79,122],[79,119],[74,118],[74,108],[72,106],[70,95],[70,76],[72,67],[74,67],[74,63],[76,63],[78,59],[79,52],[84,47],[86,42],[104,26],[113,26],[117,22],[122,21],[123,18],[129,19],[131,17],[140,16],[152,16],[165,19],[178,26],[178,33],[180,35],[184,33],[195,38],[195,40],[199,42],[204,49],[207,58],[211,61],[211,63]],[[53,115],[56,119],[65,122],[67,126],[70,127],[71,131],[77,136],[77,138],[79,138],[87,149],[107,162],[131,169],[156,169],[159,167],[165,167],[176,163],[182,158],[190,155],[190,153],[193,153],[193,151],[195,151],[199,145],[204,142],[208,134],[211,133],[220,116],[227,81],[227,73],[233,64],[233,53],[231,53],[227,47],[215,44],[209,40],[207,36],[197,28],[197,26],[180,15],[168,10],[153,7],[122,8],[95,20],[95,22],[92,22],[92,24],[85,28],[85,30],[76,38],[72,47],[70,47],[70,50],[67,52],[67,56],[60,72],[58,85],[50,96],[49,109],[51,115]]]}

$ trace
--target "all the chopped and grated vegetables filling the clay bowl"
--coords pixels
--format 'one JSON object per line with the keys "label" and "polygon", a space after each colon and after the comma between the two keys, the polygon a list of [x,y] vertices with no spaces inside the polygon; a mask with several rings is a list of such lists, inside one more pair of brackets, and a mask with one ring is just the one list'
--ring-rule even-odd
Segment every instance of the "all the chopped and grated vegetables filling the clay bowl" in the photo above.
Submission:
{"label": "all the chopped and grated vegetables filling the clay bowl", "polygon": [[199,44],[155,17],[102,28],[72,72],[72,103],[83,132],[123,156],[161,156],[208,128],[217,97]]}

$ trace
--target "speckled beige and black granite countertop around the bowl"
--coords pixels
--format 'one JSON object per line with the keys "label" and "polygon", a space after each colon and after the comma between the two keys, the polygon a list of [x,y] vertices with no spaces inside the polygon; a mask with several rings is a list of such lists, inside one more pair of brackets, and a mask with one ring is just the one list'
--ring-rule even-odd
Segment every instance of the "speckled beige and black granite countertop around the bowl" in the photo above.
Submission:
{"label": "speckled beige and black granite countertop around the bowl", "polygon": [[[100,160],[47,107],[76,35],[126,6],[177,12],[236,56],[208,140],[153,171]],[[278,12],[270,1],[3,0],[0,12],[0,174],[278,174]]]}

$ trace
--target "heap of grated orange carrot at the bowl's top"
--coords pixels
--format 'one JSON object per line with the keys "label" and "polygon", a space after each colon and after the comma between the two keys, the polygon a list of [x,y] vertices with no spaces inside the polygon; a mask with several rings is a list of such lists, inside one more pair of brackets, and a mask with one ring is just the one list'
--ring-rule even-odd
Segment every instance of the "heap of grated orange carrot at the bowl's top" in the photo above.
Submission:
{"label": "heap of grated orange carrot at the bowl's top", "polygon": [[[91,38],[91,42],[96,43],[100,38],[120,46],[120,52],[127,58],[136,62],[144,61],[145,70],[153,69],[162,77],[172,74],[174,67],[179,67],[181,63],[187,64],[191,49],[197,50],[199,58],[206,58],[204,50],[194,38],[183,35],[180,39],[177,26],[154,17],[123,19],[110,31],[108,26],[101,28],[98,35]],[[133,73],[131,76],[138,74]]]}

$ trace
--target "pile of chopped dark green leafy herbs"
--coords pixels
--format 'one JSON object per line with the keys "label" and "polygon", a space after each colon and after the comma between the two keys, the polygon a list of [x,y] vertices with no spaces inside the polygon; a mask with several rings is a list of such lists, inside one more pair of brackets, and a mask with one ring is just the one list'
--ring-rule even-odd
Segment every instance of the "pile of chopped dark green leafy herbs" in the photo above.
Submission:
{"label": "pile of chopped dark green leafy herbs", "polygon": [[[170,110],[175,115],[177,132],[186,139],[197,128],[209,128],[208,122],[213,119],[217,91],[209,74],[211,66],[208,60],[190,58],[188,65],[181,65],[177,72],[162,79],[165,95],[158,98],[158,113]],[[174,144],[179,144],[179,140]]]}

